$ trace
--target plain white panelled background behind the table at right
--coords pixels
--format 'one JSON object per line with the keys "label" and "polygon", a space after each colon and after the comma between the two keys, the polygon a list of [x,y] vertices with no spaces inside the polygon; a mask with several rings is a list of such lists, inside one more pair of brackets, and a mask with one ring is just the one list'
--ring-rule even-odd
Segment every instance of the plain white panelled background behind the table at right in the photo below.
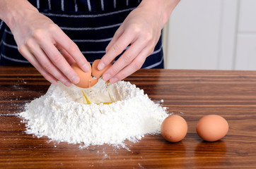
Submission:
{"label": "plain white panelled background behind the table at right", "polygon": [[256,0],[181,0],[163,42],[165,68],[256,70]]}

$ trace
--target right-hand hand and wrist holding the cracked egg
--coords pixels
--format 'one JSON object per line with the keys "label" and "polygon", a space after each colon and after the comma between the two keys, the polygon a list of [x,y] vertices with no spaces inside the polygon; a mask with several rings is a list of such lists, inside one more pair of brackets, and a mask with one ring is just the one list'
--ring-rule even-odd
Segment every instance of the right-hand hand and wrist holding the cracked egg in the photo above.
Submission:
{"label": "right-hand hand and wrist holding the cracked egg", "polygon": [[[177,1],[177,0],[175,0]],[[170,0],[165,4],[170,4]],[[101,58],[98,69],[102,70],[105,65],[111,63],[115,57],[124,51],[124,54],[103,74],[103,80],[115,83],[139,70],[146,57],[152,54],[156,43],[161,35],[161,30],[168,20],[173,8],[168,8],[156,0],[141,1],[122,25],[115,32],[110,44],[106,48],[106,54]],[[172,6],[173,6],[172,1]],[[175,6],[178,4],[175,4]],[[170,6],[169,6],[170,7]],[[168,14],[163,11],[168,11]]]}

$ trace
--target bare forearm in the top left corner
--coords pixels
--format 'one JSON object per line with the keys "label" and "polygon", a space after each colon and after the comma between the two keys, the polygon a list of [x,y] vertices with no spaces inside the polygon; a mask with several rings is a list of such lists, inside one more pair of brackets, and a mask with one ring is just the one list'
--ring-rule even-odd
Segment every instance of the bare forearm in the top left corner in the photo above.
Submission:
{"label": "bare forearm in the top left corner", "polygon": [[0,19],[4,20],[8,27],[15,27],[17,20],[21,20],[31,12],[37,12],[27,0],[1,0]]}

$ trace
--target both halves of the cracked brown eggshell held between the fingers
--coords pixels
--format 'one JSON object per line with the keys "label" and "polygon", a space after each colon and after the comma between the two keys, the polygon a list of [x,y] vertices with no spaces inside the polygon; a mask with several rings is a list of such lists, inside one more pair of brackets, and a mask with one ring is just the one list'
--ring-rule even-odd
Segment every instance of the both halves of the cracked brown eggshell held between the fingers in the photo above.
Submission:
{"label": "both halves of the cracked brown eggshell held between the fingers", "polygon": [[[110,68],[111,64],[107,65],[103,70],[98,70],[97,66],[99,61],[100,59],[97,59],[93,62],[93,68],[91,67],[91,64],[89,64],[90,70],[87,73],[81,70],[77,63],[71,65],[71,67],[74,69],[74,71],[78,74],[78,77],[80,78],[80,82],[75,84],[77,87],[93,87],[98,82],[98,78],[100,78],[103,75],[105,70],[107,70],[107,68]],[[94,77],[92,77],[92,75]]]}

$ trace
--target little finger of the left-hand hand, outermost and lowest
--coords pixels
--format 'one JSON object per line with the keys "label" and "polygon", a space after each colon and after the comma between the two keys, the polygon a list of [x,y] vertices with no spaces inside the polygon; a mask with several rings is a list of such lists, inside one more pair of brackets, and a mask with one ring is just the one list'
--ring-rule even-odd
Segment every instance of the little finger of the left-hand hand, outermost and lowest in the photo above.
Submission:
{"label": "little finger of the left-hand hand, outermost and lowest", "polygon": [[50,73],[47,73],[44,68],[42,68],[40,63],[38,63],[33,54],[31,54],[25,46],[22,46],[18,51],[41,73],[43,77],[45,77],[47,81],[51,82],[52,84],[57,84],[57,79],[53,77]]}

